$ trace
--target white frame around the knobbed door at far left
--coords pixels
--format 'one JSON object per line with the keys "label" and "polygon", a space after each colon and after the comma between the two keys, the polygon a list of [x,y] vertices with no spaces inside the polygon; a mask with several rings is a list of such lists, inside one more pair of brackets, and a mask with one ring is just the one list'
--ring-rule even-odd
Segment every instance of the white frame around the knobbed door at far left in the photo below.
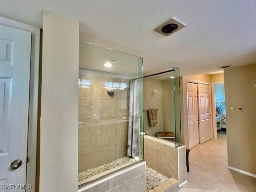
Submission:
{"label": "white frame around the knobbed door at far left", "polygon": [[36,189],[36,149],[38,129],[38,87],[39,87],[39,64],[40,64],[40,28],[24,23],[0,17],[0,24],[31,32],[30,54],[30,93],[28,112],[28,152],[26,184],[31,184],[34,192]]}

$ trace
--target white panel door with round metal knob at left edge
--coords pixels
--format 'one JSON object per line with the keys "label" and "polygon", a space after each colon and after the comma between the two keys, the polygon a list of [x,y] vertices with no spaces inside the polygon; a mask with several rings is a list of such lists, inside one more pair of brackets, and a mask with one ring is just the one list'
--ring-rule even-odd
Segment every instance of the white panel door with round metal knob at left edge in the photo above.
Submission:
{"label": "white panel door with round metal knob at left edge", "polygon": [[[0,25],[0,189],[26,184],[31,33]],[[11,166],[14,160],[21,160]],[[17,168],[17,169],[15,169]]]}

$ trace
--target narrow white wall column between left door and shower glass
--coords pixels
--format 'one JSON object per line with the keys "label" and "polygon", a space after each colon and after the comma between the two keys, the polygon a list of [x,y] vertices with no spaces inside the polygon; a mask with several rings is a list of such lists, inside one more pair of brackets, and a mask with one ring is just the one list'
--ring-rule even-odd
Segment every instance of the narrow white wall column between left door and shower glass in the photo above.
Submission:
{"label": "narrow white wall column between left door and shower glass", "polygon": [[79,24],[44,12],[40,192],[78,190]]}

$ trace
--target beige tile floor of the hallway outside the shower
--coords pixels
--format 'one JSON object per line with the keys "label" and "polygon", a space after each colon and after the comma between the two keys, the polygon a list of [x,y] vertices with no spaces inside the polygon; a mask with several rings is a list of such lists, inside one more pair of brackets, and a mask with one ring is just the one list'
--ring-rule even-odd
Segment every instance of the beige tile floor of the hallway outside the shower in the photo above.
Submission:
{"label": "beige tile floor of the hallway outside the shower", "polygon": [[176,192],[256,192],[256,178],[227,168],[224,134],[192,148],[189,164],[188,183]]}

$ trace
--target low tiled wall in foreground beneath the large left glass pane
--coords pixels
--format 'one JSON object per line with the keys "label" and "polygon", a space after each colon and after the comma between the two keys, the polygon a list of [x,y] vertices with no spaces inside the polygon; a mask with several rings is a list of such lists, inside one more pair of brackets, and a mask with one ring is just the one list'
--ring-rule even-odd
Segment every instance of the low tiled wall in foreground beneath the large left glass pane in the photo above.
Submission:
{"label": "low tiled wall in foreground beneath the large left glass pane", "polygon": [[78,188],[78,192],[146,192],[144,161]]}

